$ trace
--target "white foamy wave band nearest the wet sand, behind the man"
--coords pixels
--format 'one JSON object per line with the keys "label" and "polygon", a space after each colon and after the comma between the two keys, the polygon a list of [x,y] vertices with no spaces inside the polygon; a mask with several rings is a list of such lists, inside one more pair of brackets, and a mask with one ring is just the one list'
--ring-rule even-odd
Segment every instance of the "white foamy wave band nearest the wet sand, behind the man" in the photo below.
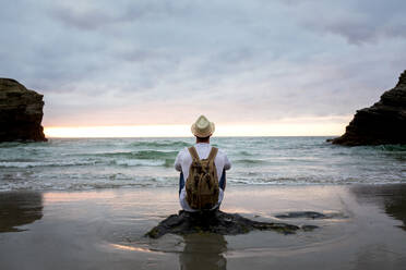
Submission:
{"label": "white foamy wave band nearest the wet sand, behind the man", "polygon": [[[387,184],[405,183],[404,181],[363,179],[322,179],[322,177],[227,177],[228,185],[348,185],[348,184]],[[86,174],[70,173],[55,175],[38,175],[37,179],[10,177],[3,179],[0,192],[4,191],[84,191],[98,188],[126,187],[175,187],[178,186],[178,176],[136,176],[126,173]],[[176,189],[174,189],[175,192]]]}

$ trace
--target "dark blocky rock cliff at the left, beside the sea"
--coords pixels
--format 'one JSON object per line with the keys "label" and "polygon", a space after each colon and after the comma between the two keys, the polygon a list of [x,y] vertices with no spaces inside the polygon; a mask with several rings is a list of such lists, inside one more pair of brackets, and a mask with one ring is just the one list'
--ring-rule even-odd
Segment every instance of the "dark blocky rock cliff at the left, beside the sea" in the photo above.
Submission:
{"label": "dark blocky rock cliff at the left, beside the sea", "polygon": [[43,121],[43,95],[11,78],[0,78],[0,142],[47,140]]}

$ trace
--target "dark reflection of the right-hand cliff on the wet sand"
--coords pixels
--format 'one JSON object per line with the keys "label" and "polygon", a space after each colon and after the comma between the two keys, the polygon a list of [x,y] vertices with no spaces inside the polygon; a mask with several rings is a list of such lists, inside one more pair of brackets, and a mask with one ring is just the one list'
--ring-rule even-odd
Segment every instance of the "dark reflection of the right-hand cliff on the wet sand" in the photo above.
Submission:
{"label": "dark reflection of the right-hand cliff on the wet sand", "polygon": [[406,185],[358,185],[350,191],[359,202],[372,202],[381,207],[390,217],[403,222],[406,231]]}

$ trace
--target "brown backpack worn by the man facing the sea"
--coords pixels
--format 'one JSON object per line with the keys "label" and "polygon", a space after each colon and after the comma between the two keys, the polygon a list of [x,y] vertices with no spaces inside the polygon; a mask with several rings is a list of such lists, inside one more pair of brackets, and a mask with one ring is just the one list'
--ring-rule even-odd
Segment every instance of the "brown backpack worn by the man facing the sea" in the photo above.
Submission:
{"label": "brown backpack worn by the man facing the sea", "polygon": [[193,146],[188,149],[193,161],[186,184],[187,201],[193,209],[210,210],[218,201],[218,179],[214,164],[218,149],[212,147],[207,159],[200,159]]}

